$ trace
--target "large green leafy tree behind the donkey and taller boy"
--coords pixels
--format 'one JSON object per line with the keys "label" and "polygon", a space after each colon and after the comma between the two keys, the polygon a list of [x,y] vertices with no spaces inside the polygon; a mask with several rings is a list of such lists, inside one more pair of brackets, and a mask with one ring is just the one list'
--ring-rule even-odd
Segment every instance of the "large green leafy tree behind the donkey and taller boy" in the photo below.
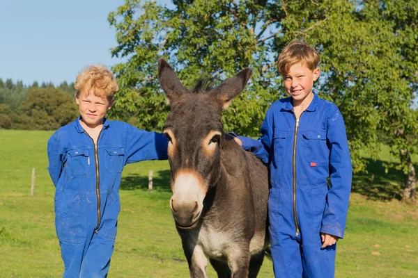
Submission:
{"label": "large green leafy tree behind the donkey and taller boy", "polygon": [[[225,111],[224,125],[256,136],[268,106],[284,96],[277,55],[288,42],[302,40],[321,54],[323,74],[316,87],[339,106],[354,170],[365,170],[360,154],[369,149],[376,158],[382,126],[392,134],[396,126],[403,131],[409,126],[408,138],[416,134],[410,117],[417,69],[412,6],[412,0],[195,0],[173,1],[174,8],[167,8],[126,0],[109,14],[118,42],[111,53],[127,58],[113,68],[121,85],[114,116],[146,129],[162,126],[168,108],[157,83],[160,57],[169,60],[186,86],[201,74],[218,83],[249,66],[251,83]],[[402,114],[408,120],[399,120]],[[407,139],[391,144],[399,154],[413,151]]]}

